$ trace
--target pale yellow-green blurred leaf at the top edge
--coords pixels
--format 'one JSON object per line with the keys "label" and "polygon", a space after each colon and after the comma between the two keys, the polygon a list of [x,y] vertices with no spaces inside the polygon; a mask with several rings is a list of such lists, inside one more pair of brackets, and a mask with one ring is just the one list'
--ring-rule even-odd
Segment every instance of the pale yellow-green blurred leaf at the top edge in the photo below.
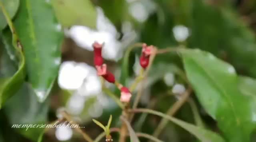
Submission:
{"label": "pale yellow-green blurred leaf at the top edge", "polygon": [[52,0],[52,5],[65,28],[73,25],[96,28],[97,12],[90,0]]}

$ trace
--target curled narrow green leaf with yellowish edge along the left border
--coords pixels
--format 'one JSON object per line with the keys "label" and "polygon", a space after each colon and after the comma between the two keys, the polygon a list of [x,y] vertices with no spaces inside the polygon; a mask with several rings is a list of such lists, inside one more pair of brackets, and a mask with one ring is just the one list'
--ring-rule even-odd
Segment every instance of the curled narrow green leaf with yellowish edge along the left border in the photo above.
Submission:
{"label": "curled narrow green leaf with yellowish edge along the left border", "polygon": [[4,46],[4,53],[2,55],[2,64],[1,66],[4,68],[0,72],[2,73],[2,83],[0,84],[0,108],[7,99],[12,97],[18,89],[20,89],[24,77],[24,55],[22,53],[22,49],[19,43],[18,36],[16,35],[15,29],[12,25],[11,19],[9,17],[8,11],[6,8],[0,3],[0,7],[2,8],[2,12],[4,14],[4,18],[8,22],[9,29],[5,29],[2,33],[2,41]]}

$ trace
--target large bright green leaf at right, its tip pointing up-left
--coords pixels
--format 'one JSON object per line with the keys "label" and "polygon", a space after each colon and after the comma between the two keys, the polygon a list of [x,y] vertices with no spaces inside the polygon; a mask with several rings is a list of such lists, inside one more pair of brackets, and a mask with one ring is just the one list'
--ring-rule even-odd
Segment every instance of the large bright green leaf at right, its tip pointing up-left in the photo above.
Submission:
{"label": "large bright green leaf at right, its tip pointing up-left", "polygon": [[188,80],[205,110],[230,142],[249,142],[256,101],[238,89],[234,67],[198,49],[181,50]]}

